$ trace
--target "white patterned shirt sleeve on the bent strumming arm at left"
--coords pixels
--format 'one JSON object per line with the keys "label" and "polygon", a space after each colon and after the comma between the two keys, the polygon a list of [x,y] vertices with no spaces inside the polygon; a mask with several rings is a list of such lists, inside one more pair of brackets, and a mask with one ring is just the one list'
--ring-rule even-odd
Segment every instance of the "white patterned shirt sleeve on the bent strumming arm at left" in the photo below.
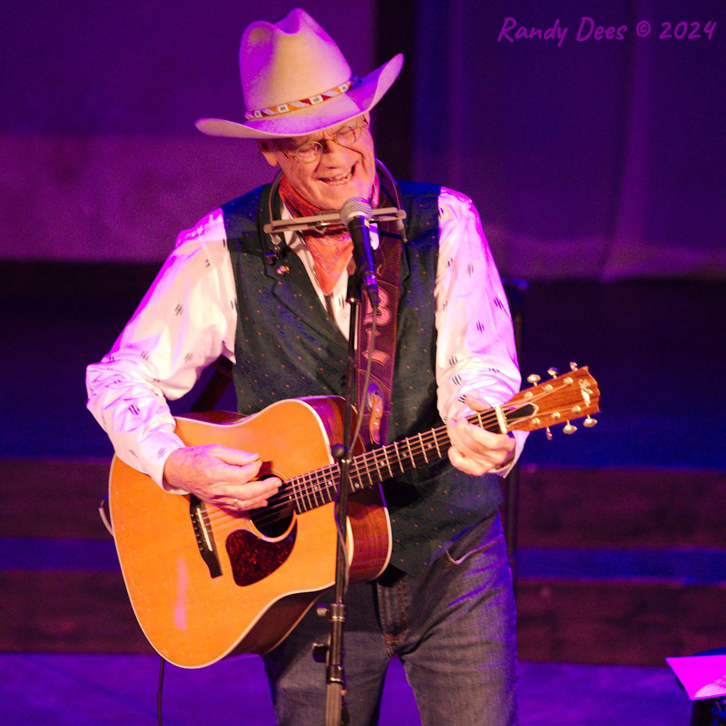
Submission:
{"label": "white patterned shirt sleeve on the bent strumming arm at left", "polygon": [[88,408],[116,454],[159,485],[169,454],[184,446],[166,399],[187,393],[221,354],[234,360],[237,311],[226,245],[219,209],[181,232],[113,348],[86,372]]}

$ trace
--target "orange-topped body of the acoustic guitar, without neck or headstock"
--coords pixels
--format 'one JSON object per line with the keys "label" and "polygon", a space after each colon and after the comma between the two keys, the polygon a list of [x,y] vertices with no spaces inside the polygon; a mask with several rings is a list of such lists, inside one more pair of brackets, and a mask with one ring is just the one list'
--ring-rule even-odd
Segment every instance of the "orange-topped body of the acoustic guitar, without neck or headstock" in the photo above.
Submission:
{"label": "orange-topped body of the acoustic guitar, without neck or headstock", "polygon": [[[343,439],[342,417],[342,399],[319,396],[278,401],[242,419],[178,417],[176,433],[190,446],[259,452],[260,476],[288,481],[333,463],[330,446]],[[274,648],[334,582],[333,506],[232,516],[163,492],[115,457],[113,531],[144,635],[166,660],[187,668]],[[380,486],[351,495],[346,545],[351,580],[375,579],[386,568],[391,524]]]}

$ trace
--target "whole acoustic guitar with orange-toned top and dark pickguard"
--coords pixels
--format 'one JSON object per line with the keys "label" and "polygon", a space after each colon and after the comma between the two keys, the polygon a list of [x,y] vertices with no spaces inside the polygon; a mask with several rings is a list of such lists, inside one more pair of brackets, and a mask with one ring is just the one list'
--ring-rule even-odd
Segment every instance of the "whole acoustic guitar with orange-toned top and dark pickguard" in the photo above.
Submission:
{"label": "whole acoustic guitar with orange-toned top and dark pickguard", "polygon": [[[534,431],[586,417],[600,391],[587,367],[517,393],[507,404],[468,417],[487,431]],[[537,376],[530,376],[536,383]],[[176,418],[185,444],[223,444],[259,452],[259,477],[284,482],[266,507],[230,515],[193,495],[164,492],[114,457],[110,511],[123,579],[136,618],[167,661],[199,668],[242,653],[265,653],[295,627],[335,578],[338,464],[343,438],[336,396],[278,401],[255,415],[212,412]],[[351,461],[346,522],[350,579],[375,579],[391,555],[391,523],[380,483],[446,456],[446,427]]]}

